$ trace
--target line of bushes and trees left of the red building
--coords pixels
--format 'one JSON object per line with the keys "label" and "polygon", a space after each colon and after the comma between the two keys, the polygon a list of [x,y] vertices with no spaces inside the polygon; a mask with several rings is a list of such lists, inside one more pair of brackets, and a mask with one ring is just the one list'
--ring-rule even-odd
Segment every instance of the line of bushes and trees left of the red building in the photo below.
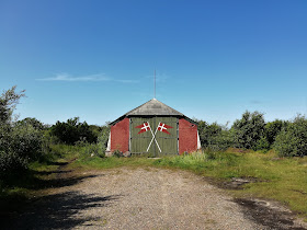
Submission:
{"label": "line of bushes and trees left of the red building", "polygon": [[30,162],[49,160],[53,145],[82,146],[87,153],[104,156],[107,125],[88,125],[80,123],[78,117],[57,122],[53,126],[44,125],[36,118],[18,120],[13,112],[25,94],[15,89],[13,87],[0,96],[0,184],[22,173]]}

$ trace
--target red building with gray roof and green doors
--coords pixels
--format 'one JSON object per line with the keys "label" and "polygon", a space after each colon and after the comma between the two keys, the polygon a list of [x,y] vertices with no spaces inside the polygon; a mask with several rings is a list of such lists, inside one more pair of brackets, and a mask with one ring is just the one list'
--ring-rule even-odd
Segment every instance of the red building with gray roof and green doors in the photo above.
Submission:
{"label": "red building with gray roof and green doors", "polygon": [[197,123],[152,99],[111,123],[106,152],[158,157],[200,148]]}

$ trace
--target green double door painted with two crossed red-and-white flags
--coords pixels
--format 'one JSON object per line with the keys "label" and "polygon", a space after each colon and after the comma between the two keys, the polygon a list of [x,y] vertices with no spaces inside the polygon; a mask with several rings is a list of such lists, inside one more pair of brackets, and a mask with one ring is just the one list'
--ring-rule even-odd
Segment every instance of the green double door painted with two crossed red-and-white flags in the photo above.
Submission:
{"label": "green double door painted with two crossed red-and-white flags", "polygon": [[130,118],[129,149],[132,154],[149,157],[178,154],[178,118]]}

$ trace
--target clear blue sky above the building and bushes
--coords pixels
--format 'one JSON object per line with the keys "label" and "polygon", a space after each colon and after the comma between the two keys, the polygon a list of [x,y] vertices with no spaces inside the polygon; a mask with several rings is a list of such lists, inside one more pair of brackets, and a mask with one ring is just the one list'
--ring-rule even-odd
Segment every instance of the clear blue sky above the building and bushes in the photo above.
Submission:
{"label": "clear blue sky above the building and bushes", "polygon": [[307,114],[305,0],[0,0],[0,90],[16,113],[103,125],[154,97],[230,124]]}

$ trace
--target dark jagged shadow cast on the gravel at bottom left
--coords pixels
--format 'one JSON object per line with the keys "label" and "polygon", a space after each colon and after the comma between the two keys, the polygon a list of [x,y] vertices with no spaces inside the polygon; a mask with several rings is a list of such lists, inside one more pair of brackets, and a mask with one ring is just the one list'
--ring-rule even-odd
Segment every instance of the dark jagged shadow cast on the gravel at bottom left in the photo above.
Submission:
{"label": "dark jagged shadow cast on the gravel at bottom left", "polygon": [[103,217],[83,218],[80,212],[109,206],[120,197],[99,197],[77,192],[48,195],[35,200],[20,214],[14,212],[2,219],[1,226],[2,229],[71,229],[82,225],[103,226]]}

